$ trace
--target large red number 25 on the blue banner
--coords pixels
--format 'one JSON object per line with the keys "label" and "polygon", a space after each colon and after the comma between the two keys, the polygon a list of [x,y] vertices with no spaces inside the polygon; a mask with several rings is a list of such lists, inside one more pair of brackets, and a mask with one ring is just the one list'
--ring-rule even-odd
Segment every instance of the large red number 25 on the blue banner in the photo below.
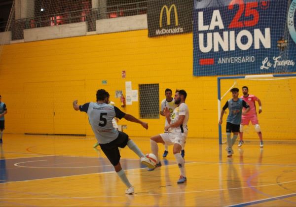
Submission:
{"label": "large red number 25 on the blue banner", "polygon": [[[234,18],[230,22],[228,28],[252,27],[258,24],[259,22],[259,12],[257,11],[258,1],[246,3],[246,10],[245,10],[244,0],[232,0],[228,5],[228,9],[232,10],[235,4],[238,4],[239,8]],[[253,19],[247,20],[247,21],[239,21],[244,11],[245,11],[245,17],[253,16]]]}

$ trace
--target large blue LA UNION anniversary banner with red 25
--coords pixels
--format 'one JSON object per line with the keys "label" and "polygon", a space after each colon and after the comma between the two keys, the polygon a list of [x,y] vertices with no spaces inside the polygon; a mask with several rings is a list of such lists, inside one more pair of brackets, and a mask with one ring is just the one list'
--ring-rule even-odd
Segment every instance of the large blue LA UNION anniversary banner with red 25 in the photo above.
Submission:
{"label": "large blue LA UNION anniversary banner with red 25", "polygon": [[194,0],[193,75],[296,72],[296,0]]}

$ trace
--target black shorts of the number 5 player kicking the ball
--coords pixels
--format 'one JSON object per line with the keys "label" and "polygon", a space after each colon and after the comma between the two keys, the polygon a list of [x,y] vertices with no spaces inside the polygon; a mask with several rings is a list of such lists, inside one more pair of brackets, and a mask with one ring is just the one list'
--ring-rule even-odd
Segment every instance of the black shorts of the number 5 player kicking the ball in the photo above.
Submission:
{"label": "black shorts of the number 5 player kicking the ball", "polygon": [[120,153],[119,153],[118,147],[124,148],[127,145],[127,141],[128,141],[127,134],[120,131],[118,131],[118,133],[119,135],[115,140],[107,144],[100,144],[102,151],[110,160],[113,166],[117,165],[120,160]]}

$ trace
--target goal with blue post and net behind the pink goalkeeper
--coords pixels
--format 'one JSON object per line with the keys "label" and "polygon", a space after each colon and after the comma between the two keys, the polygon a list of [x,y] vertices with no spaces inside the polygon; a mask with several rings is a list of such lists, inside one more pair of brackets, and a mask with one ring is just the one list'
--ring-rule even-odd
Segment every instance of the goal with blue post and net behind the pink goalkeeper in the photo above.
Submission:
{"label": "goal with blue post and net behind the pink goalkeeper", "polygon": [[[296,140],[296,74],[276,75],[247,75],[218,77],[218,118],[223,105],[232,98],[230,89],[239,88],[239,97],[242,87],[249,88],[249,94],[259,98],[262,104],[262,113],[257,115],[264,139],[276,141]],[[219,126],[219,142],[225,142],[225,126],[228,110],[226,109],[222,126]],[[219,120],[218,119],[218,120]],[[244,127],[244,139],[258,140],[258,135],[252,123]]]}

